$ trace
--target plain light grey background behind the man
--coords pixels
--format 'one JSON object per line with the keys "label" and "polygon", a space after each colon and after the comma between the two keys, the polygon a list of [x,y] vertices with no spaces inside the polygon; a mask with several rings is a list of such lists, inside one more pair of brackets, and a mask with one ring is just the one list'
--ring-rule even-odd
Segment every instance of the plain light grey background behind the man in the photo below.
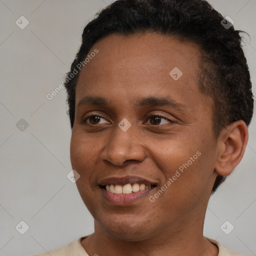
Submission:
{"label": "plain light grey background behind the man", "polygon": [[[250,34],[243,49],[256,93],[256,0],[209,2]],[[65,90],[51,100],[46,94],[63,81],[83,27],[107,3],[0,0],[0,255],[40,253],[93,232],[93,218],[66,177]],[[24,29],[15,24],[21,15],[29,20]],[[28,123],[23,131],[16,126],[21,118]],[[244,255],[256,255],[255,126],[254,114],[245,155],[210,198],[204,225],[205,236]],[[29,226],[24,234],[15,228],[21,220]],[[220,228],[226,220],[234,226],[229,234]]]}

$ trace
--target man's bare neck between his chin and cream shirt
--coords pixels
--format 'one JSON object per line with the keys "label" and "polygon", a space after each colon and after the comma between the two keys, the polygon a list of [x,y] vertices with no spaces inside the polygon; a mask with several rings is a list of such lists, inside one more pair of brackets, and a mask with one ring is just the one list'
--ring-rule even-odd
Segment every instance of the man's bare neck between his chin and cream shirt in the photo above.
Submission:
{"label": "man's bare neck between his chin and cream shirt", "polygon": [[175,227],[166,227],[165,230],[161,229],[140,241],[114,238],[103,231],[97,221],[94,221],[94,227],[94,233],[81,241],[82,247],[89,255],[218,255],[217,246],[202,234],[203,221],[180,221]]}

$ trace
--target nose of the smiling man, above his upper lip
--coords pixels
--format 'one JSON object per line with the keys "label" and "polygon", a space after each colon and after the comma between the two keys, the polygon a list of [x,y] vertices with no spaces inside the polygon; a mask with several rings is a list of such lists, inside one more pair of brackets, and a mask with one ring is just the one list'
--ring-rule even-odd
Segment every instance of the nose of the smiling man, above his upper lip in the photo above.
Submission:
{"label": "nose of the smiling man, above his upper lip", "polygon": [[135,127],[124,131],[119,126],[109,134],[106,147],[102,151],[101,159],[116,166],[121,166],[125,161],[143,161],[145,149],[139,135],[135,133]]}

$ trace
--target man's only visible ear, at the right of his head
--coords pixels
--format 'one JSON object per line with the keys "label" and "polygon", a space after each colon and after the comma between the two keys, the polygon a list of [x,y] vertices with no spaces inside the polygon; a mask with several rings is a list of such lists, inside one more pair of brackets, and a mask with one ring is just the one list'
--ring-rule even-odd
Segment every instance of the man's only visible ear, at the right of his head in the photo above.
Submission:
{"label": "man's only visible ear, at the right of his head", "polygon": [[248,141],[248,128],[244,121],[232,122],[223,128],[218,137],[218,155],[215,172],[229,175],[240,162]]}

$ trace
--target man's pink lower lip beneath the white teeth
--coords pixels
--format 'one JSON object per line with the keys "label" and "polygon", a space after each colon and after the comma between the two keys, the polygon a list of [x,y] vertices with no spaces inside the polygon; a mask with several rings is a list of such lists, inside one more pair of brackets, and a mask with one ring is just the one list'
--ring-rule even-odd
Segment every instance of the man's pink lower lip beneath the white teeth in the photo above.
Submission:
{"label": "man's pink lower lip beneath the white teeth", "polygon": [[114,205],[126,205],[130,203],[134,203],[143,197],[145,197],[154,187],[151,187],[150,189],[140,190],[137,192],[131,192],[128,194],[115,194],[106,191],[106,189],[100,187],[101,194],[103,197],[107,200],[108,203],[114,204]]}

